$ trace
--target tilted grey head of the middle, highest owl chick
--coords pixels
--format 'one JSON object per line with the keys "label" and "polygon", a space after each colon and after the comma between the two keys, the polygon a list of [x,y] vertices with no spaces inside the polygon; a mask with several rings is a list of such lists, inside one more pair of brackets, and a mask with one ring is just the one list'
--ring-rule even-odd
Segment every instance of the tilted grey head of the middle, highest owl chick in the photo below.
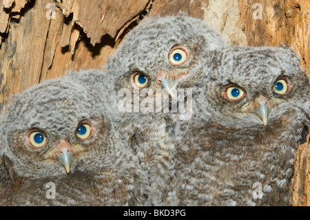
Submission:
{"label": "tilted grey head of the middle, highest owl chick", "polygon": [[220,34],[200,19],[146,18],[127,34],[105,70],[112,76],[116,90],[138,92],[140,101],[154,99],[154,94],[163,90],[174,96],[174,81],[201,67],[204,48],[223,47]]}

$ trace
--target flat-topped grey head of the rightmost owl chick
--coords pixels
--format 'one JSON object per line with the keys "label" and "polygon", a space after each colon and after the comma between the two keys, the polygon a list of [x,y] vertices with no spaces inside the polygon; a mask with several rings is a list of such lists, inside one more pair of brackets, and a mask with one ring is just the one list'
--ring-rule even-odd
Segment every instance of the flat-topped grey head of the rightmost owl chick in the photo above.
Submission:
{"label": "flat-topped grey head of the rightmost owl chick", "polygon": [[309,79],[292,50],[232,47],[204,59],[203,70],[178,85],[192,86],[197,117],[245,128],[309,114]]}

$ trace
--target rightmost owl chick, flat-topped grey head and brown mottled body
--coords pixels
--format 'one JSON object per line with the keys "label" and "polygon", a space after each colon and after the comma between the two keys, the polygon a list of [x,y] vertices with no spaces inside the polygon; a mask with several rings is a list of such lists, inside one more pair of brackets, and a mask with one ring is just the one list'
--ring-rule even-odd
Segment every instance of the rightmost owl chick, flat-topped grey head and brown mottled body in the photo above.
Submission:
{"label": "rightmost owl chick, flat-topped grey head and brown mottled body", "polygon": [[204,60],[177,86],[193,90],[193,116],[176,124],[165,205],[289,206],[294,156],[309,130],[309,79],[296,54],[232,47]]}

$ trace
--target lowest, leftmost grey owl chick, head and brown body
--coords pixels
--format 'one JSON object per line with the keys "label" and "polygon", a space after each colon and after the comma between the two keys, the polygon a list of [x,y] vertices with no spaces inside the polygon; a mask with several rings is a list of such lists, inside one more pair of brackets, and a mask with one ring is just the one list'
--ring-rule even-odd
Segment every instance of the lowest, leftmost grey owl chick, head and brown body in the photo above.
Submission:
{"label": "lowest, leftmost grey owl chick, head and brown body", "polygon": [[14,97],[1,121],[0,186],[10,186],[2,204],[143,205],[147,179],[96,94],[54,79]]}

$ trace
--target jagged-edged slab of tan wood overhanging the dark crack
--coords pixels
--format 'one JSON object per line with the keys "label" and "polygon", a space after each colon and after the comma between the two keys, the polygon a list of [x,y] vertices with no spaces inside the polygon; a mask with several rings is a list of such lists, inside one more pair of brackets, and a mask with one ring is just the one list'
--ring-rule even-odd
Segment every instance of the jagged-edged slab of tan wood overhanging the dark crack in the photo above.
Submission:
{"label": "jagged-edged slab of tan wood overhanging the dark crack", "polygon": [[72,21],[83,28],[94,46],[101,42],[101,37],[105,34],[114,38],[125,23],[145,10],[148,3],[149,0],[65,0],[61,8],[66,17],[73,13]]}

